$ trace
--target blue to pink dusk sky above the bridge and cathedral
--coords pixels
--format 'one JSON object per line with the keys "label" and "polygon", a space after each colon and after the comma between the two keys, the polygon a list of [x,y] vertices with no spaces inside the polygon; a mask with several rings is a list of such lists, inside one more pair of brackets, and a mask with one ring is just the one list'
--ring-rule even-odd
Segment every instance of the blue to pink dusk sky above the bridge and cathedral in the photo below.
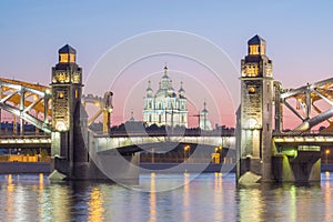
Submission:
{"label": "blue to pink dusk sky above the bridge and cathedral", "polygon": [[[78,51],[78,63],[83,68],[84,84],[90,85],[89,93],[101,94],[103,89],[99,81],[103,79],[88,77],[110,49],[138,34],[176,30],[214,43],[230,58],[238,73],[241,59],[248,52],[248,40],[260,34],[268,42],[266,54],[273,60],[274,79],[284,88],[297,88],[332,77],[332,9],[333,2],[329,0],[1,1],[0,77],[48,85],[51,67],[58,62],[58,49],[69,43]],[[239,101],[228,90],[233,85],[214,85],[214,79],[210,79],[213,74],[198,62],[165,54],[128,67],[123,75],[127,78],[122,78],[122,82],[118,79],[118,84],[111,87],[114,124],[129,119],[130,110],[135,119],[142,119],[147,82],[151,77],[152,87],[158,88],[164,62],[170,68],[175,90],[180,87],[176,73],[185,72],[181,81],[194,103],[189,115],[196,114],[208,100],[213,124],[234,125]],[[192,93],[192,83],[186,85],[191,73],[191,80],[204,79],[208,93]],[[135,89],[133,77],[140,77]],[[123,85],[128,90],[123,90]],[[133,101],[125,100],[129,92],[135,92]]]}

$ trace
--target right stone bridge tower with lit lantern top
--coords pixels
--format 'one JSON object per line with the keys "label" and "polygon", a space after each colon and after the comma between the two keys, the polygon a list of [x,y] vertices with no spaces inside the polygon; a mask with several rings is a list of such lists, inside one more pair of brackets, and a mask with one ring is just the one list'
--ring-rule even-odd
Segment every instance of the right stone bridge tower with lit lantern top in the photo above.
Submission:
{"label": "right stone bridge tower with lit lantern top", "polygon": [[261,37],[250,39],[248,49],[241,67],[238,180],[250,171],[260,175],[262,181],[270,181],[274,95],[272,61],[266,57],[266,42]]}

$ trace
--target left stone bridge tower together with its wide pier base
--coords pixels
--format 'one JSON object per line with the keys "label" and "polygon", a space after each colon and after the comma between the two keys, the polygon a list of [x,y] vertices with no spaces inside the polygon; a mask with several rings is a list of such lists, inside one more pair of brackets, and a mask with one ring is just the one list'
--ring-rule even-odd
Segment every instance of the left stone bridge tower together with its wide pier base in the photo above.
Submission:
{"label": "left stone bridge tower together with its wide pier base", "polygon": [[[49,179],[137,182],[139,168],[135,165],[139,164],[139,153],[120,155],[114,151],[99,155],[88,152],[95,147],[94,139],[87,127],[88,115],[81,101],[82,69],[77,64],[73,48],[64,46],[59,50],[59,62],[52,68],[51,154],[54,171]],[[105,101],[105,109],[110,105],[110,101]],[[109,111],[104,113],[108,114]],[[109,122],[110,117],[108,117],[108,124]]]}

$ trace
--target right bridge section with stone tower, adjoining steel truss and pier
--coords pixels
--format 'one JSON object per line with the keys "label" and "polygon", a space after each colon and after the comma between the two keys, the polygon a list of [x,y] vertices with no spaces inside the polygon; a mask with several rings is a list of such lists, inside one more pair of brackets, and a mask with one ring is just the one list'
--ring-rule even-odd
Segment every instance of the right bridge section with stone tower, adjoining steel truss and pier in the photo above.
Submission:
{"label": "right bridge section with stone tower, adjoining steel truss and pier", "polygon": [[[296,89],[273,79],[266,42],[255,36],[242,60],[238,181],[320,181],[321,147],[331,145],[333,78]],[[285,113],[300,123],[285,129]],[[325,122],[319,133],[314,128]]]}

